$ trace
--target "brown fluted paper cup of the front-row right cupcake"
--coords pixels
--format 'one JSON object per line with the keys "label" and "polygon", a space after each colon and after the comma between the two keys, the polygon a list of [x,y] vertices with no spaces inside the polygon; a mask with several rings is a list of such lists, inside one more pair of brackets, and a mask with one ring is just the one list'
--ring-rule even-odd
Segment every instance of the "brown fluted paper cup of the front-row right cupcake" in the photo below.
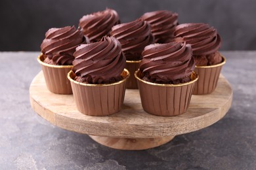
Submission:
{"label": "brown fluted paper cup of the front-row right cupcake", "polygon": [[156,84],[142,80],[142,73],[135,72],[143,109],[158,116],[176,116],[188,109],[192,90],[198,75],[192,73],[191,81],[181,84]]}

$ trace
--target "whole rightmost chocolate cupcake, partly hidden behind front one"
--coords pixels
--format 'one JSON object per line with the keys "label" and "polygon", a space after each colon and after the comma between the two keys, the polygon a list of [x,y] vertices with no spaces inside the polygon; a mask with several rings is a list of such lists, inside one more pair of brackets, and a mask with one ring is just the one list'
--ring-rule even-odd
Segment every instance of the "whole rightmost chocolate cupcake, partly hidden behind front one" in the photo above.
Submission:
{"label": "whole rightmost chocolate cupcake, partly hidden behind front one", "polygon": [[209,24],[190,23],[175,27],[175,41],[191,44],[196,62],[196,73],[200,76],[193,94],[208,94],[215,90],[221,69],[226,59],[218,51],[221,37],[217,29]]}

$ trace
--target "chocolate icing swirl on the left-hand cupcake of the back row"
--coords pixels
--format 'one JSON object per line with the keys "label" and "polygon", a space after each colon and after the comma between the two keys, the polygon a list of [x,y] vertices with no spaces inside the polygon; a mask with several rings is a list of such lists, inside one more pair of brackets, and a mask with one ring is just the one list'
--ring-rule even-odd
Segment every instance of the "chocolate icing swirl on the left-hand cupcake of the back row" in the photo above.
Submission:
{"label": "chocolate icing swirl on the left-hand cupcake of the back row", "polygon": [[79,20],[83,34],[87,35],[92,42],[100,41],[104,35],[108,35],[114,25],[119,23],[119,16],[113,9],[88,14]]}

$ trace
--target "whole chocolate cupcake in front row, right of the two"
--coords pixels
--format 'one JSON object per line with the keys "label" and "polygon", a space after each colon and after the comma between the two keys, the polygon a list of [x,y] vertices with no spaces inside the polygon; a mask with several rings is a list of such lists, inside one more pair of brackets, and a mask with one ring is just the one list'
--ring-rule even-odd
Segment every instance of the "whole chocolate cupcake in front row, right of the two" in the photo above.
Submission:
{"label": "whole chocolate cupcake in front row, right of the two", "polygon": [[186,112],[198,75],[190,44],[152,44],[142,52],[138,80],[143,109],[158,116]]}

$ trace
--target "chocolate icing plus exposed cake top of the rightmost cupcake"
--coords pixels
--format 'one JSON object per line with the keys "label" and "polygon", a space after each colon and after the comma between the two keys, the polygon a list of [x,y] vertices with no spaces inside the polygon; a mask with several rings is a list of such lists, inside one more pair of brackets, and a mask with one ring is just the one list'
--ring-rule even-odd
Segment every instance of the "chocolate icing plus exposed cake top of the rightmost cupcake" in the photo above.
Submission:
{"label": "chocolate icing plus exposed cake top of the rightmost cupcake", "polygon": [[222,58],[218,50],[221,37],[217,29],[209,24],[190,23],[175,27],[174,41],[191,44],[196,65],[214,65],[221,63]]}

